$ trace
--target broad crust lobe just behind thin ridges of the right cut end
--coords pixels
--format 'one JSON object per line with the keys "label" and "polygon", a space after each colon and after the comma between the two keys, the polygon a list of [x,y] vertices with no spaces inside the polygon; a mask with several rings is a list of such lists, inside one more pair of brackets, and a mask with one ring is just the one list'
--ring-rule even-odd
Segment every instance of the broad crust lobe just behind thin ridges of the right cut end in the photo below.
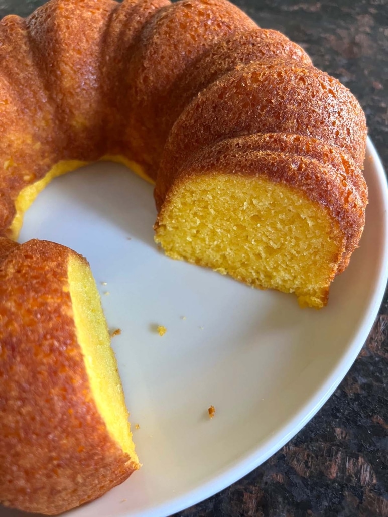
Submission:
{"label": "broad crust lobe just behind thin ridges of the right cut end", "polygon": [[163,199],[169,176],[209,142],[268,132],[316,138],[363,165],[367,129],[355,97],[317,68],[273,59],[224,75],[188,105],[163,150],[156,195]]}

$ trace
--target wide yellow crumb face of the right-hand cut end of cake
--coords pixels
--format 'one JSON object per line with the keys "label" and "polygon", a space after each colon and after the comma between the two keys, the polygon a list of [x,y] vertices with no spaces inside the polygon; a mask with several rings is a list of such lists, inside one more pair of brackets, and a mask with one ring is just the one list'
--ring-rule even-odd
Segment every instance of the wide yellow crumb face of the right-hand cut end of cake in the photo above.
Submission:
{"label": "wide yellow crumb face of the right-hand cut end of cake", "polygon": [[[328,212],[264,176],[186,178],[166,200],[156,242],[172,258],[324,305],[342,241]],[[200,258],[199,258],[200,257]]]}

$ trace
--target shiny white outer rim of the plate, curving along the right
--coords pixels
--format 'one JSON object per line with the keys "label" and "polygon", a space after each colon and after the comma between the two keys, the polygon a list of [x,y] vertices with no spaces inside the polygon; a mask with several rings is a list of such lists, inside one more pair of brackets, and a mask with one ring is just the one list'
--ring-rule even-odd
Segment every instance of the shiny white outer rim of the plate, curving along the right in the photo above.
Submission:
{"label": "shiny white outer rim of the plate, curving along the right", "polygon": [[252,470],[271,458],[271,456],[286,445],[293,436],[299,433],[332,396],[340,382],[348,374],[375,323],[388,282],[388,181],[382,160],[369,136],[367,136],[366,156],[372,157],[376,177],[381,188],[383,205],[387,208],[384,211],[383,219],[385,223],[383,230],[385,239],[381,252],[377,287],[368,309],[364,313],[359,331],[357,331],[347,352],[341,357],[340,361],[336,364],[331,374],[326,377],[320,388],[311,394],[311,397],[303,404],[297,413],[285,425],[282,425],[281,429],[264,440],[255,450],[248,452],[244,457],[226,467],[223,472],[200,486],[193,488],[186,494],[172,498],[150,509],[127,512],[125,513],[125,517],[168,517],[169,515],[201,503],[201,501],[228,488],[228,486],[242,479],[252,472]]}

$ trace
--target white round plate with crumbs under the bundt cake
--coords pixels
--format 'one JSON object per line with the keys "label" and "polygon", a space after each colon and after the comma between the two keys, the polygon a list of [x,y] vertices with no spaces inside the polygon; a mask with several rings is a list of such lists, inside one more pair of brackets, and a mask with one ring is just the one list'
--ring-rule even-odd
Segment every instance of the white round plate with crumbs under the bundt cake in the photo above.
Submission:
{"label": "white round plate with crumbs under the bundt cake", "polygon": [[108,323],[122,329],[112,344],[140,424],[142,469],[71,515],[180,511],[257,467],[316,413],[360,352],[387,281],[387,185],[370,141],[365,176],[361,247],[321,311],[166,258],[153,241],[152,187],[123,166],[88,166],[40,194],[21,241],[61,242],[90,261]]}

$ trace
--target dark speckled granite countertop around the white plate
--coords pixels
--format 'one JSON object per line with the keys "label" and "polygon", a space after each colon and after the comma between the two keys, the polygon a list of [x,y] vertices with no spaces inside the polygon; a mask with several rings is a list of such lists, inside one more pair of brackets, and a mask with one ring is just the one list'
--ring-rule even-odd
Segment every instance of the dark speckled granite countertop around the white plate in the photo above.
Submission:
{"label": "dark speckled granite countertop around the white plate", "polygon": [[[40,0],[0,0],[0,18]],[[235,0],[300,43],[348,86],[388,166],[388,0]],[[345,380],[290,443],[251,474],[177,515],[388,516],[388,295]]]}

